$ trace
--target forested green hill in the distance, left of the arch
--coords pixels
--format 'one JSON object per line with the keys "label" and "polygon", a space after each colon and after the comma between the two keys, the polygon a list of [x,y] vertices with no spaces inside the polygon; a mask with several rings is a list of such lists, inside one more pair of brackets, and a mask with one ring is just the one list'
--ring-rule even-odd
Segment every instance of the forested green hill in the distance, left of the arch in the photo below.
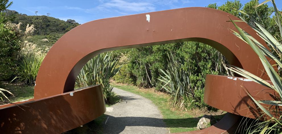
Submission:
{"label": "forested green hill in the distance, left of the arch", "polygon": [[[66,32],[79,26],[75,20],[60,20],[58,18],[49,16],[28,16],[26,14],[21,14],[14,10],[5,10],[7,16],[9,16],[12,23],[18,24],[22,22],[20,29],[22,32],[25,31],[26,25],[34,25],[36,29],[33,38],[30,39],[32,43],[39,43],[40,45],[53,45],[61,36]],[[42,42],[41,39],[48,39],[49,42]]]}

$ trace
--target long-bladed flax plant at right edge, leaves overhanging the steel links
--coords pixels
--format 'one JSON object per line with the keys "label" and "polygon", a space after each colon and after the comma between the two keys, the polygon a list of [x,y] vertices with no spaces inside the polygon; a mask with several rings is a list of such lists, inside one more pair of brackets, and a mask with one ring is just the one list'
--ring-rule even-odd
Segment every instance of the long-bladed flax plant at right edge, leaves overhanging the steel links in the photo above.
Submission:
{"label": "long-bladed flax plant at right edge, leaves overhanging the steel links", "polygon": [[[263,3],[259,4],[258,6],[271,1],[273,3],[273,7],[275,10],[275,22],[279,28],[280,35],[271,35],[261,24],[259,24],[255,19],[251,18],[248,14],[246,14],[243,11],[240,11],[240,13],[245,14],[246,16],[250,17],[250,19],[254,22],[256,26],[252,27],[257,34],[264,40],[266,43],[268,43],[269,46],[272,47],[273,53],[271,53],[266,47],[264,47],[259,41],[257,41],[254,37],[252,37],[250,34],[248,34],[246,31],[244,31],[242,28],[238,27],[236,23],[246,22],[243,18],[241,18],[243,21],[233,21],[230,19],[230,22],[233,23],[235,28],[239,31],[236,32],[234,30],[233,33],[245,41],[250,47],[255,51],[255,53],[260,57],[260,60],[264,66],[264,69],[266,73],[268,74],[272,84],[268,83],[264,79],[259,78],[258,76],[255,76],[254,74],[251,74],[250,72],[247,72],[241,68],[230,66],[229,69],[233,72],[240,74],[243,77],[246,77],[248,79],[251,79],[252,81],[255,81],[259,84],[262,84],[266,87],[269,87],[277,92],[278,95],[274,95],[273,100],[255,100],[247,91],[250,98],[254,101],[254,103],[263,111],[263,116],[258,117],[254,122],[250,123],[250,127],[246,129],[247,133],[281,133],[282,132],[282,82],[281,82],[281,74],[279,72],[276,72],[276,70],[273,68],[273,66],[278,66],[278,70],[281,70],[281,59],[282,59],[282,44],[281,44],[281,37],[282,37],[282,26],[281,26],[281,15],[282,12],[280,12],[276,5],[274,0],[266,0]],[[257,6],[257,7],[258,7]],[[235,23],[236,22],[236,23]],[[247,22],[246,22],[247,23]],[[231,29],[230,29],[231,30]],[[271,58],[276,62],[275,65],[271,65],[266,57]],[[270,104],[270,107],[265,107],[262,104]],[[274,113],[274,114],[273,114]],[[264,116],[269,116],[269,120],[267,118],[264,118]],[[263,121],[261,121],[263,120]]]}

